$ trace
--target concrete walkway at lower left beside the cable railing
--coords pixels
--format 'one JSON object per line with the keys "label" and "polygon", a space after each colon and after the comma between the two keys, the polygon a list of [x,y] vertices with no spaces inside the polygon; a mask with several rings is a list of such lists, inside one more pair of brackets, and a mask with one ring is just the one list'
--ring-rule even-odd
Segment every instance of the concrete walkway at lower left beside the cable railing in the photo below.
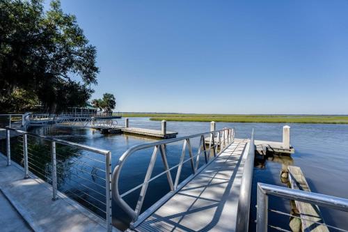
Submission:
{"label": "concrete walkway at lower left beside the cable railing", "polygon": [[[52,201],[52,187],[40,178],[24,179],[24,171],[17,164],[6,166],[6,157],[0,153],[0,190],[22,217],[1,222],[9,229],[23,224],[23,219],[34,231],[106,231],[105,222],[58,193],[59,199]],[[5,203],[6,205],[6,203]],[[2,204],[1,210],[2,212]],[[12,212],[11,212],[12,213]],[[1,213],[0,217],[3,217]],[[15,231],[25,231],[24,229]],[[10,230],[8,230],[10,231]]]}

